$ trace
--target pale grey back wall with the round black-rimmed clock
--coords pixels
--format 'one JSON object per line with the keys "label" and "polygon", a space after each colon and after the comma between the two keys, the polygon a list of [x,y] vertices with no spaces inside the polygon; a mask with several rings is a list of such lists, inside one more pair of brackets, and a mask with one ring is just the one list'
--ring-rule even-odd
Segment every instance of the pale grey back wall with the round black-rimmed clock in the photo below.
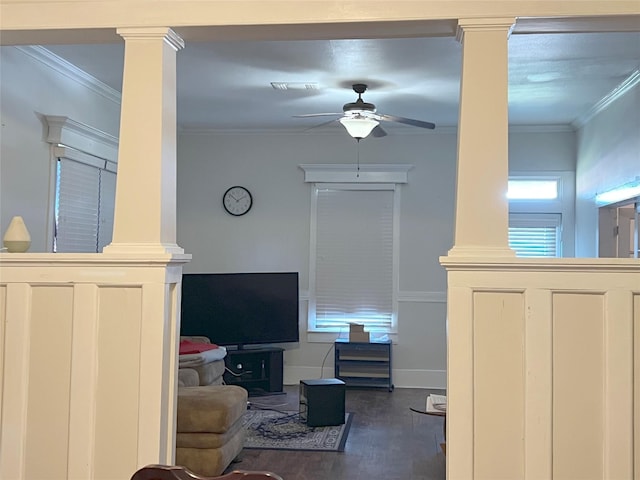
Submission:
{"label": "pale grey back wall with the round black-rimmed clock", "polygon": [[[517,133],[510,168],[573,170],[572,131]],[[444,387],[446,272],[439,257],[453,243],[455,132],[390,131],[360,143],[362,163],[412,164],[402,186],[400,211],[399,333],[394,346],[397,386]],[[351,164],[357,144],[335,133],[183,133],[178,139],[178,244],[193,260],[188,272],[293,270],[300,272],[301,342],[285,346],[285,381],[321,374],[328,343],[308,343],[311,185],[300,164]],[[251,211],[226,214],[222,194],[243,185]],[[329,353],[324,374],[333,371]]]}

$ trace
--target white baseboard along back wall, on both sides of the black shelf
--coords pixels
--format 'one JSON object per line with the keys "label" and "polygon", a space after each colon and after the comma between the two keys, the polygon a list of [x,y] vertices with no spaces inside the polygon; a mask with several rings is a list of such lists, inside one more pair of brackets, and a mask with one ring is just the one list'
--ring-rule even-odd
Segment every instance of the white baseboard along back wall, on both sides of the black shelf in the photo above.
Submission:
{"label": "white baseboard along back wall, on both sides of the black shelf", "polygon": [[[325,365],[324,371],[320,367],[298,367],[286,365],[284,367],[284,384],[299,385],[300,380],[310,378],[332,378],[333,364]],[[446,370],[393,370],[393,384],[396,388],[447,388]]]}

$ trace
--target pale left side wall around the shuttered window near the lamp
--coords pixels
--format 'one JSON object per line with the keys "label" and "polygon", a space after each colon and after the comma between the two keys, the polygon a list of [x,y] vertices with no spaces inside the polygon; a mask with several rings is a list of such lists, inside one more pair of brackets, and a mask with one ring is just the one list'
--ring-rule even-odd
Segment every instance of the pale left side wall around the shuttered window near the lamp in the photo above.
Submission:
{"label": "pale left side wall around the shuttered window near the lamp", "polygon": [[67,116],[113,136],[120,123],[119,103],[46,60],[38,50],[0,47],[0,232],[4,235],[14,215],[22,215],[30,252],[51,251],[55,177],[42,115]]}

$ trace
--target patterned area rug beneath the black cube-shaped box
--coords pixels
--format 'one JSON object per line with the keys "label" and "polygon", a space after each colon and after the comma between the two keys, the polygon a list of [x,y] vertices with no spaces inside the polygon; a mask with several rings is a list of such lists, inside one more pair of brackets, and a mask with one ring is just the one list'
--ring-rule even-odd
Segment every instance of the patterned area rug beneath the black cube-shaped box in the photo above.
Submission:
{"label": "patterned area rug beneath the black cube-shaped box", "polygon": [[247,410],[243,420],[247,427],[244,448],[343,452],[352,418],[353,414],[347,413],[344,425],[309,427],[298,412]]}

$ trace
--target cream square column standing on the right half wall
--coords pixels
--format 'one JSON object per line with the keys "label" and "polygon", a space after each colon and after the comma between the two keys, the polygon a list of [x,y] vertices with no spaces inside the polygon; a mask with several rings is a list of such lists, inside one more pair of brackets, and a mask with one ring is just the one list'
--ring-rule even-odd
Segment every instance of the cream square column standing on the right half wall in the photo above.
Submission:
{"label": "cream square column standing on the right half wall", "polygon": [[462,79],[450,256],[515,256],[508,241],[508,50],[514,18],[459,20]]}

